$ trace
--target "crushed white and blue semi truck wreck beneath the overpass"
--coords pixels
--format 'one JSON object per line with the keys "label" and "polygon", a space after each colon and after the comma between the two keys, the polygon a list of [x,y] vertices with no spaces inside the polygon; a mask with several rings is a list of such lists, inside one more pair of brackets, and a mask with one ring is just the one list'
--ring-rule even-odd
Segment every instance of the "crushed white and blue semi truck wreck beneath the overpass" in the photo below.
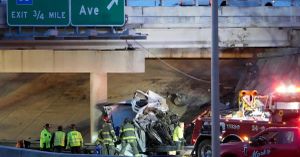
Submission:
{"label": "crushed white and blue semi truck wreck beneath the overpass", "polygon": [[[139,151],[144,154],[175,150],[172,133],[178,116],[169,111],[166,99],[153,91],[137,90],[133,99],[102,104],[102,119],[110,119],[117,135],[125,118],[135,125]],[[130,155],[130,154],[128,154]]]}

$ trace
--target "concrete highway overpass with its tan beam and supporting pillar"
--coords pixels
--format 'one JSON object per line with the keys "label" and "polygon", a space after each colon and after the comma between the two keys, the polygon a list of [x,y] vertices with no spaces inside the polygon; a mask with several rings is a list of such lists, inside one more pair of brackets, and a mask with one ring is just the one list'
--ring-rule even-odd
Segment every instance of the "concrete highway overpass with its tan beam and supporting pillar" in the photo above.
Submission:
{"label": "concrete highway overpass with its tan beam and supporting pillar", "polygon": [[[144,72],[145,58],[210,58],[210,7],[126,7],[124,28],[8,27],[5,10],[2,4],[0,72],[90,73],[92,136],[107,73]],[[221,58],[299,53],[299,7],[218,11]]]}

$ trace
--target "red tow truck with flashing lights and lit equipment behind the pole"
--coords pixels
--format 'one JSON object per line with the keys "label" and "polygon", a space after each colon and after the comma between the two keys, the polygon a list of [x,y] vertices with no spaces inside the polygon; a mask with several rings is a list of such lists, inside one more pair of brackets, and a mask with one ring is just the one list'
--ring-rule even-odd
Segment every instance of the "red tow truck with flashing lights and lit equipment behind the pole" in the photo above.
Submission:
{"label": "red tow truck with flashing lights and lit equipment behind the pole", "polygon": [[[269,95],[242,90],[239,93],[239,110],[220,118],[220,141],[247,142],[251,136],[269,127],[297,126],[300,122],[300,88],[289,85],[276,88]],[[191,143],[193,156],[211,155],[211,118],[200,114],[193,120]],[[219,136],[219,135],[215,135]]]}

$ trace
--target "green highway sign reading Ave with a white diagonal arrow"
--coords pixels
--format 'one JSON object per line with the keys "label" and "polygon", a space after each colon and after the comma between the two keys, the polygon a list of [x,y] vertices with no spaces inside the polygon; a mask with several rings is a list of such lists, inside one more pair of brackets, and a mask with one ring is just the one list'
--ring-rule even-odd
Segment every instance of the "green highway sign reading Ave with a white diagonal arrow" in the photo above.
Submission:
{"label": "green highway sign reading Ave with a white diagonal arrow", "polygon": [[73,26],[123,26],[125,0],[71,0]]}

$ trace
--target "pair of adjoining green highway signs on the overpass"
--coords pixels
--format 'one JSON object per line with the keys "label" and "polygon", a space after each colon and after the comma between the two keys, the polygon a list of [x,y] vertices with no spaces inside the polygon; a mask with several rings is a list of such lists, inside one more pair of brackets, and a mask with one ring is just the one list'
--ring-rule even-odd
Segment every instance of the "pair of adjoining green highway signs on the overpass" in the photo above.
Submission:
{"label": "pair of adjoining green highway signs on the overpass", "polygon": [[8,0],[9,26],[123,26],[125,0]]}

